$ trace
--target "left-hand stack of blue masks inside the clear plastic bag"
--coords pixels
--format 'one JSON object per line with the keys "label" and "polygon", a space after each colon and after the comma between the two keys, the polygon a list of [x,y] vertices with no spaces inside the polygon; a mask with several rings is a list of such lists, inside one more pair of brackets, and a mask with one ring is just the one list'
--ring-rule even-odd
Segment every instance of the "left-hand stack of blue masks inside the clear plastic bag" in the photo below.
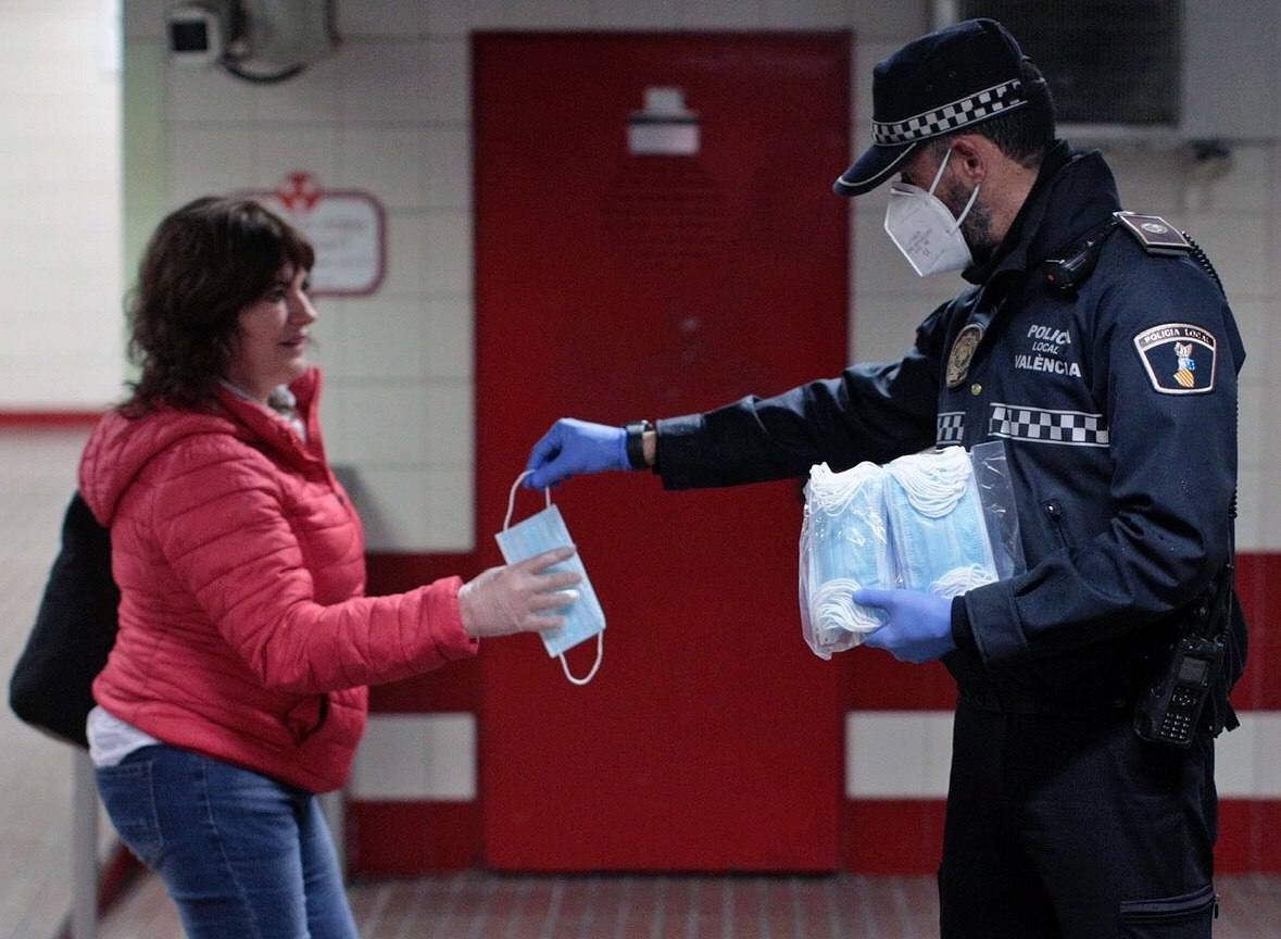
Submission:
{"label": "left-hand stack of blue masks inside the clear plastic bag", "polygon": [[895,587],[885,529],[885,470],[861,462],[843,473],[828,464],[810,469],[802,529],[801,620],[815,655],[830,658],[885,625],[889,615],[861,606],[851,594],[863,587]]}

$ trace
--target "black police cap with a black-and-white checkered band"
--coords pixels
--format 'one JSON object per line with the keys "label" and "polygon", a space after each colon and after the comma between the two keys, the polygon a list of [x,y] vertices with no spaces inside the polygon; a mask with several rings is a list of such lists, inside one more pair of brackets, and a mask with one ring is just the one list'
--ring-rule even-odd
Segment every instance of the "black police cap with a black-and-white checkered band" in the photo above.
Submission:
{"label": "black police cap with a black-and-white checkered band", "polygon": [[908,42],[872,72],[872,145],[833,190],[885,182],[921,141],[1027,104],[1018,42],[994,19],[967,19]]}

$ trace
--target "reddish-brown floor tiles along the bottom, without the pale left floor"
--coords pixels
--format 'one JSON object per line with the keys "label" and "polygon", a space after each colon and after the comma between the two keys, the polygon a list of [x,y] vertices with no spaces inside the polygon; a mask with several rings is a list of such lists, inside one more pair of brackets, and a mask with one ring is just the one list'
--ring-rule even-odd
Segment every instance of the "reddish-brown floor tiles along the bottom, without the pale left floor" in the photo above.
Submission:
{"label": "reddish-brown floor tiles along the bottom, without the pale left floor", "polygon": [[[1222,878],[1216,939],[1281,936],[1281,880]],[[364,939],[925,939],[933,878],[506,878],[459,874],[351,888]],[[181,939],[154,880],[102,939]],[[1100,938],[1102,939],[1102,938]]]}

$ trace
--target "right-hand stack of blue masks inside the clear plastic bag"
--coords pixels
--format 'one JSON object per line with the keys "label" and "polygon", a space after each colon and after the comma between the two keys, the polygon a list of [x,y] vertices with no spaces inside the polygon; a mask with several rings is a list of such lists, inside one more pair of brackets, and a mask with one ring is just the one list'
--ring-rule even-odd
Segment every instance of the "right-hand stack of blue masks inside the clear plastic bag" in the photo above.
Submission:
{"label": "right-hand stack of blue masks inside the clear plastic bag", "polygon": [[961,447],[885,466],[885,511],[903,587],[956,597],[997,580],[983,501]]}

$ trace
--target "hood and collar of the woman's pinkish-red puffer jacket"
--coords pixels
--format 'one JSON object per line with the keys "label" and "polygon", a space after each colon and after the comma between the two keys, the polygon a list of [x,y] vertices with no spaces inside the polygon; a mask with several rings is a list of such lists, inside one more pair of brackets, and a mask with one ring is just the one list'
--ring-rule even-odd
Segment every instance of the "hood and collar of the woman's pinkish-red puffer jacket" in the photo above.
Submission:
{"label": "hood and collar of the woman's pinkish-red puffer jacket", "polygon": [[219,389],[209,411],[161,407],[128,418],[119,409],[109,411],[94,428],[79,464],[79,491],[99,524],[110,527],[117,506],[138,474],[158,455],[179,441],[201,434],[232,436],[254,442],[300,466],[323,466],[315,400],[320,374],[309,369],[290,384],[298,412],[314,446],[305,446],[264,405]]}

